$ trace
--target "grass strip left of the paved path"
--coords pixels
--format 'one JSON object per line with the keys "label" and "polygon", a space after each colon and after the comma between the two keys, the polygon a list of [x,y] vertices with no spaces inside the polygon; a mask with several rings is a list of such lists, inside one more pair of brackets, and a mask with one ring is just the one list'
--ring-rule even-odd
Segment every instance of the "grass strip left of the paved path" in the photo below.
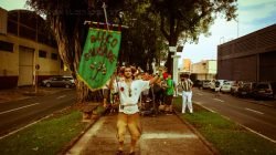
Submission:
{"label": "grass strip left of the paved path", "polygon": [[67,110],[0,140],[1,155],[56,155],[87,126],[82,113]]}

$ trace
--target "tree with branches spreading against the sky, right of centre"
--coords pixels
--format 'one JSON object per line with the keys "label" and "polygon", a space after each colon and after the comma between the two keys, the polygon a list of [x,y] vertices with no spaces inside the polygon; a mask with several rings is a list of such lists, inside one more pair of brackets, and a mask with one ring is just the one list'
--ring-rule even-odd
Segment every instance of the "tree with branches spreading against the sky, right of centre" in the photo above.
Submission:
{"label": "tree with branches spreading against the sky, right of centre", "polygon": [[[227,21],[236,17],[236,0],[150,0],[149,11],[160,17],[160,31],[170,46],[176,46],[179,38],[184,42],[197,42],[201,33],[209,34],[209,28],[217,16]],[[171,72],[172,53],[167,58]]]}

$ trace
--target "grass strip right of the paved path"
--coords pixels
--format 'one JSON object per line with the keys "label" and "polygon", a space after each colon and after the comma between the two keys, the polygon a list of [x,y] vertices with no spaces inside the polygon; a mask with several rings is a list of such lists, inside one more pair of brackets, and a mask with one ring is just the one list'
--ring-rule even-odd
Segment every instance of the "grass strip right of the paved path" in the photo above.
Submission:
{"label": "grass strip right of the paved path", "polygon": [[[174,100],[180,112],[181,99]],[[276,144],[238,124],[193,104],[193,114],[180,117],[192,124],[222,155],[275,155]]]}

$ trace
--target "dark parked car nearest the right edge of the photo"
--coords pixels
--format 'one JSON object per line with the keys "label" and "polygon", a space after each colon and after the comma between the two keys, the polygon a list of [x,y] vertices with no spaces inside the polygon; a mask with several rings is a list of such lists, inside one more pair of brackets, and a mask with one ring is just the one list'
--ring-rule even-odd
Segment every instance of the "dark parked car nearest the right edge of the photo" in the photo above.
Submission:
{"label": "dark parked car nearest the right edge of the photo", "polygon": [[272,83],[269,82],[259,82],[256,83],[256,86],[253,89],[253,97],[258,99],[274,99],[274,92]]}

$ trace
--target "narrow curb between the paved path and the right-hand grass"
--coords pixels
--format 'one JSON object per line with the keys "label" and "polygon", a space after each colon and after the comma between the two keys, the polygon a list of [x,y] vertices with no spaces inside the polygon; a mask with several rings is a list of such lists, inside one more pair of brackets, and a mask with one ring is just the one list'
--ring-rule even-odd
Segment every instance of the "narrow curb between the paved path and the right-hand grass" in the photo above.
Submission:
{"label": "narrow curb between the paved path and the right-hand grass", "polygon": [[220,152],[219,152],[210,142],[208,142],[208,141],[205,140],[205,137],[202,136],[202,135],[200,134],[200,132],[198,132],[198,130],[197,130],[195,127],[193,127],[189,122],[187,122],[185,120],[183,120],[183,118],[180,117],[180,114],[181,114],[180,112],[174,111],[174,113],[176,113],[176,115],[178,116],[178,118],[179,118],[182,123],[184,123],[184,124],[185,124],[195,135],[199,136],[200,141],[203,142],[203,144],[204,144],[205,146],[208,146],[208,148],[209,148],[214,155],[220,155]]}

